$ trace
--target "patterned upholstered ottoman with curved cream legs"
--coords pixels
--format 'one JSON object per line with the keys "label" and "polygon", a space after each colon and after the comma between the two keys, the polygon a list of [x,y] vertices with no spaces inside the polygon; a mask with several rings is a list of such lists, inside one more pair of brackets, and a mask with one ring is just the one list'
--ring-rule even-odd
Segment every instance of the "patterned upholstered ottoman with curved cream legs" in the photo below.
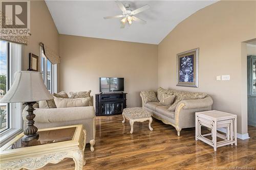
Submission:
{"label": "patterned upholstered ottoman with curved cream legs", "polygon": [[153,128],[151,127],[151,123],[153,120],[151,117],[151,113],[142,109],[141,107],[125,108],[123,109],[122,115],[123,115],[122,123],[125,122],[125,118],[130,121],[131,134],[133,133],[134,122],[144,122],[146,120],[149,121],[148,128],[150,128],[150,130],[153,131]]}

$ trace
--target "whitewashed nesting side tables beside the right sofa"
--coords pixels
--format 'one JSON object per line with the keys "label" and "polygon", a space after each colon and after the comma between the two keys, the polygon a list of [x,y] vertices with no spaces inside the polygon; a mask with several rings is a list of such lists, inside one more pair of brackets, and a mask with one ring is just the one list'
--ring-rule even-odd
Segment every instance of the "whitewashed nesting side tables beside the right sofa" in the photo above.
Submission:
{"label": "whitewashed nesting side tables beside the right sofa", "polygon": [[[211,129],[211,133],[201,134],[201,127]],[[217,128],[226,128],[226,136],[217,132]],[[212,139],[205,136],[211,135]],[[217,137],[223,139],[217,142]],[[196,112],[196,140],[201,140],[217,151],[218,147],[233,143],[237,145],[237,115],[217,110]]]}

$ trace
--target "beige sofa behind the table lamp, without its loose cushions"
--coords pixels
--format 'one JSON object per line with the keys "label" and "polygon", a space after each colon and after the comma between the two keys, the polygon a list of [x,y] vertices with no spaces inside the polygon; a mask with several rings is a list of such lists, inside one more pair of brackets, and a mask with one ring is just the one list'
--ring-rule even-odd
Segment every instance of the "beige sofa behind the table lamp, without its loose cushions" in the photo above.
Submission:
{"label": "beige sofa behind the table lamp, without its loose cushions", "polygon": [[[92,96],[91,99],[93,101]],[[91,151],[94,151],[96,115],[93,106],[45,109],[38,108],[38,104],[35,104],[33,107],[35,108],[34,114],[36,115],[34,125],[38,129],[81,124],[87,131],[86,143],[90,143]],[[24,129],[27,127],[27,108],[28,106],[23,110]]]}

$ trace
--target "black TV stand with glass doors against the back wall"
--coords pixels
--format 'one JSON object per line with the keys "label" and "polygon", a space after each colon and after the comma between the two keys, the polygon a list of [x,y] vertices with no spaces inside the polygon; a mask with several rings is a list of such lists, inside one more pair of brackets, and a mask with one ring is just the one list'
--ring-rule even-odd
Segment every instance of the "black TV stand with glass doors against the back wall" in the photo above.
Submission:
{"label": "black TV stand with glass doors against the back wall", "polygon": [[95,94],[95,109],[97,116],[122,114],[126,108],[124,92],[100,92]]}

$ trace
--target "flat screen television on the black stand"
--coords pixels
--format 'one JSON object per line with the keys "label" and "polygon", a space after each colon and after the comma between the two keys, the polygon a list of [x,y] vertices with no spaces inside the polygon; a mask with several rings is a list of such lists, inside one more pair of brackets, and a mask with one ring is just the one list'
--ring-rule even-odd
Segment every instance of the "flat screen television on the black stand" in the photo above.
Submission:
{"label": "flat screen television on the black stand", "polygon": [[99,91],[124,91],[124,78],[101,77],[99,78]]}

